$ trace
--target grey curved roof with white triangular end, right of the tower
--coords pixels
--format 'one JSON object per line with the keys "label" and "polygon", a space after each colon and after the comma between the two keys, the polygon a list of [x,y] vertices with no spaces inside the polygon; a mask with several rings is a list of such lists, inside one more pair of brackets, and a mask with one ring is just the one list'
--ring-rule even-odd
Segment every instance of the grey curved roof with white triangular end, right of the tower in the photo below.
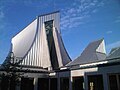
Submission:
{"label": "grey curved roof with white triangular end, right of the tower", "polygon": [[106,51],[105,51],[104,40],[100,39],[91,42],[82,52],[82,54],[74,61],[67,64],[67,66],[96,62],[96,61],[104,60],[105,58],[106,58]]}

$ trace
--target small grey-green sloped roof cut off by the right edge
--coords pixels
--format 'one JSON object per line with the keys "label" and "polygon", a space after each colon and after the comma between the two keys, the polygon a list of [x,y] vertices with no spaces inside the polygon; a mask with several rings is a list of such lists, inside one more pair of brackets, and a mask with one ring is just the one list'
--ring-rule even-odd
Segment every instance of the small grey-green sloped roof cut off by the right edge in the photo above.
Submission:
{"label": "small grey-green sloped roof cut off by the right edge", "polygon": [[118,57],[120,57],[120,47],[113,48],[106,59],[112,59]]}

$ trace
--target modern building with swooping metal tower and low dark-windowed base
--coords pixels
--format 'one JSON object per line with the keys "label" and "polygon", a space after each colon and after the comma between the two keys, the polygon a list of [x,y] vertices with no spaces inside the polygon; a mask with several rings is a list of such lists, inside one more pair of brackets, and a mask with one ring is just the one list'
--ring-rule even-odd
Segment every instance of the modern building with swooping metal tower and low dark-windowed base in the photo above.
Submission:
{"label": "modern building with swooping metal tower and low dark-windowed base", "polygon": [[14,59],[6,59],[3,65],[22,67],[16,71],[23,73],[16,90],[120,90],[120,48],[106,55],[100,39],[71,60],[60,34],[58,11],[38,16],[11,43]]}

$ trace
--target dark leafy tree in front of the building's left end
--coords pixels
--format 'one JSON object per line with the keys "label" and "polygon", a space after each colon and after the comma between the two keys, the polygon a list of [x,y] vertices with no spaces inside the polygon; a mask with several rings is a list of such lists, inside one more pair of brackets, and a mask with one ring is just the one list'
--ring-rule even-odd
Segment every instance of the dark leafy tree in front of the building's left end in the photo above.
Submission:
{"label": "dark leafy tree in front of the building's left end", "polygon": [[15,90],[15,87],[20,84],[19,78],[23,74],[20,72],[22,67],[19,64],[21,62],[22,58],[15,57],[13,52],[6,57],[5,62],[1,65],[2,90]]}

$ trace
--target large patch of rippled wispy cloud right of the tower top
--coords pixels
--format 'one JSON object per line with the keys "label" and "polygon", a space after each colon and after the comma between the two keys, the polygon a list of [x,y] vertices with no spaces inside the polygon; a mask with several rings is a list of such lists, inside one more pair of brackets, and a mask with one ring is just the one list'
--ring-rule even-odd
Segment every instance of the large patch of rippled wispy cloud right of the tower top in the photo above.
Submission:
{"label": "large patch of rippled wispy cloud right of the tower top", "polygon": [[87,19],[98,11],[98,7],[104,5],[104,0],[75,0],[65,9],[62,9],[61,29],[68,30],[87,23]]}

